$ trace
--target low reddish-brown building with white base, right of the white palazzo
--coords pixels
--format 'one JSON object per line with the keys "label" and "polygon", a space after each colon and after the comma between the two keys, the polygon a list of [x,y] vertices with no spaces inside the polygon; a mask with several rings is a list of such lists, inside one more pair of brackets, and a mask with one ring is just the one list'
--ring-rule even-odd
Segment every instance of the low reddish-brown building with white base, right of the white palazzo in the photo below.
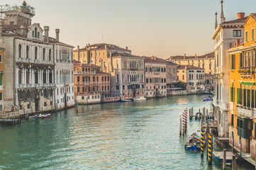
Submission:
{"label": "low reddish-brown building with white base, right of the white palazzo", "polygon": [[95,64],[74,60],[74,94],[79,104],[101,103],[110,96],[111,74]]}

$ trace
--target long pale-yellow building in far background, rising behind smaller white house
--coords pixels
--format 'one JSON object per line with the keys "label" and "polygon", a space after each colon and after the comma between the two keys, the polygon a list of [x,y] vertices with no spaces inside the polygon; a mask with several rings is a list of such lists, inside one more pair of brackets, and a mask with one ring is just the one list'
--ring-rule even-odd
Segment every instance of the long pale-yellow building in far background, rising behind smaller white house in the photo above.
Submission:
{"label": "long pale-yellow building in far background, rising behind smaller white house", "polygon": [[179,65],[191,65],[200,67],[204,69],[207,74],[213,74],[214,72],[214,52],[210,52],[201,56],[187,56],[186,54],[184,54],[184,56],[171,56],[167,59],[167,61],[169,60]]}

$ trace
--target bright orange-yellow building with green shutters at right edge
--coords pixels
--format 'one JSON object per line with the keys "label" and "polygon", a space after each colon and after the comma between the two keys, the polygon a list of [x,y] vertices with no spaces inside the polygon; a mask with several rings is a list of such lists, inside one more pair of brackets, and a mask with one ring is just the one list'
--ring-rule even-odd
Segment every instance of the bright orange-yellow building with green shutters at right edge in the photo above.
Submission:
{"label": "bright orange-yellow building with green shutters at right edge", "polygon": [[256,77],[255,77],[256,13],[244,25],[244,43],[237,40],[228,50],[230,56],[230,144],[255,158],[256,147]]}

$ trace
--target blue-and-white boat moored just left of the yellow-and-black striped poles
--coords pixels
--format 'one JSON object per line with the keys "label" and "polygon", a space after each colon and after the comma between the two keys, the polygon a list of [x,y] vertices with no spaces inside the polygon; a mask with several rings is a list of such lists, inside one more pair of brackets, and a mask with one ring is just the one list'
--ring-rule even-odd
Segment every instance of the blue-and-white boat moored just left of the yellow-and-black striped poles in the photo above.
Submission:
{"label": "blue-and-white boat moored just left of the yellow-and-black striped poles", "polygon": [[200,136],[201,136],[200,130],[190,135],[189,139],[186,142],[185,149],[200,151],[201,150]]}

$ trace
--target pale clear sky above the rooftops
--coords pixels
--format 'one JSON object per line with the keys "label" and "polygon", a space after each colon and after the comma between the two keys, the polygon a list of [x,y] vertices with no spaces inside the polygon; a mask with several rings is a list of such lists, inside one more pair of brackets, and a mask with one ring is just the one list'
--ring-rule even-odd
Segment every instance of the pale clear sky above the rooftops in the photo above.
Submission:
{"label": "pale clear sky above the rooftops", "polygon": [[[220,0],[26,0],[35,8],[32,23],[60,28],[60,41],[85,47],[109,43],[133,55],[168,58],[213,52],[215,14]],[[1,0],[20,5],[23,0]],[[226,21],[236,13],[256,13],[255,0],[224,0]]]}

